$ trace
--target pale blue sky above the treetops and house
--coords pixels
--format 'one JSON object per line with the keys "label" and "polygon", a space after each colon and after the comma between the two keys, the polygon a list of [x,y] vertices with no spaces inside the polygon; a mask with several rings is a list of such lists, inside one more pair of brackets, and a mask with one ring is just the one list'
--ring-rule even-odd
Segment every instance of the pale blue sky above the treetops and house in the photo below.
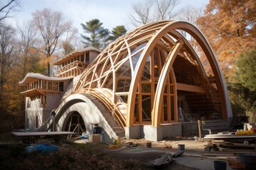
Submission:
{"label": "pale blue sky above the treetops and house", "polygon": [[[140,0],[22,0],[21,11],[14,17],[18,23],[32,19],[31,13],[43,8],[51,8],[60,11],[65,17],[73,21],[75,28],[82,33],[80,23],[85,23],[91,19],[98,18],[103,23],[103,27],[112,30],[115,26],[124,25],[125,28],[132,29],[129,23],[129,13],[132,5]],[[178,8],[186,5],[201,7],[206,6],[208,0],[180,0]],[[12,23],[14,21],[11,21]]]}

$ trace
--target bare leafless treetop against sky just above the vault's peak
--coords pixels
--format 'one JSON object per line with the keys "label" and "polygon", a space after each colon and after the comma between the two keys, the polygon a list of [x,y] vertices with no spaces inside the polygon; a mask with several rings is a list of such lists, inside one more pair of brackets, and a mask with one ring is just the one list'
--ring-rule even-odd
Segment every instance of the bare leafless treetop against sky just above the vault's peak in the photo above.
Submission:
{"label": "bare leafless treetop against sky just above the vault's peak", "polygon": [[181,11],[176,10],[179,0],[144,0],[132,6],[129,14],[130,21],[134,26],[140,26],[153,21],[173,19]]}

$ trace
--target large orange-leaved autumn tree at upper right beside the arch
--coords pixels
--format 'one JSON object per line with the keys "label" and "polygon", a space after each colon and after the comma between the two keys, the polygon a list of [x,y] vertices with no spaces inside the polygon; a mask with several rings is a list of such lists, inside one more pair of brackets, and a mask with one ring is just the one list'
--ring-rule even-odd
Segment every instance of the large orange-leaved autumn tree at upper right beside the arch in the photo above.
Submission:
{"label": "large orange-leaved autumn tree at upper right beside the arch", "polygon": [[213,47],[225,79],[230,81],[240,54],[255,47],[255,1],[210,0],[196,23]]}

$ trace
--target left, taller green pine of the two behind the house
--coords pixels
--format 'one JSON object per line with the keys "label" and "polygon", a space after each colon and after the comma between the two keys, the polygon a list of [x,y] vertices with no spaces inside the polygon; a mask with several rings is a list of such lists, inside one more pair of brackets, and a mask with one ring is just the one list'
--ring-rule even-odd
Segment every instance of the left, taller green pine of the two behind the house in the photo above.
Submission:
{"label": "left, taller green pine of the two behind the house", "polygon": [[105,47],[104,40],[107,39],[107,36],[110,34],[110,31],[102,27],[103,23],[100,23],[98,19],[92,19],[88,22],[81,23],[84,33],[90,34],[90,36],[83,35],[82,42],[89,47],[102,48]]}

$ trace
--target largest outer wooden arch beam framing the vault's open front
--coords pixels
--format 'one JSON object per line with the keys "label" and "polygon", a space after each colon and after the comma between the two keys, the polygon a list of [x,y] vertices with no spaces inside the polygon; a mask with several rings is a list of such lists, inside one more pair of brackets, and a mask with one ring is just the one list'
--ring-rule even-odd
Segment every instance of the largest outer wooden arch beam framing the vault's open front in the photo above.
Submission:
{"label": "largest outer wooden arch beam framing the vault's open front", "polygon": [[185,30],[187,33],[190,33],[190,35],[192,35],[193,38],[195,38],[195,40],[201,46],[203,52],[205,52],[206,57],[208,58],[210,67],[213,69],[213,74],[215,74],[216,85],[220,90],[220,94],[223,94],[220,95],[220,99],[222,103],[222,111],[224,112],[225,115],[224,118],[227,117],[227,112],[231,111],[230,103],[228,101],[228,91],[225,87],[225,84],[223,84],[223,74],[220,72],[218,62],[206,38],[203,36],[201,31],[198,28],[196,28],[196,26],[193,26],[193,24],[191,23],[188,23],[186,21],[170,21],[170,23],[166,24],[166,26],[162,26],[162,28],[158,30],[154,36],[152,36],[152,38],[146,44],[146,47],[144,48],[142,55],[138,60],[137,67],[134,69],[134,78],[131,81],[131,86],[129,89],[130,95],[127,101],[127,126],[133,125],[132,119],[134,117],[135,106],[134,99],[136,98],[138,83],[143,72],[143,66],[146,62],[146,58],[150,55],[151,50],[153,50],[154,46],[160,40],[160,38],[164,36],[166,33],[171,32],[171,30],[175,29]]}

